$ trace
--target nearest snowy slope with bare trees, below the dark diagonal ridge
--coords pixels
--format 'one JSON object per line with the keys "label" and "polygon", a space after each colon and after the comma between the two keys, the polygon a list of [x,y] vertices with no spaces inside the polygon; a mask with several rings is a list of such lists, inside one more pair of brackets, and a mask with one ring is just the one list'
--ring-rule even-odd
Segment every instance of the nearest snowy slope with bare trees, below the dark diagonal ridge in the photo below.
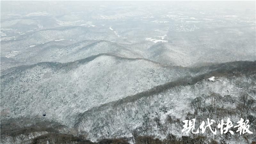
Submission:
{"label": "nearest snowy slope with bare trees, below the dark diagonal ridge", "polygon": [[[242,72],[243,70],[240,69],[237,70],[237,72],[238,71]],[[255,68],[253,68],[253,71],[251,72],[250,77],[255,77]],[[222,72],[218,70],[215,72],[217,75],[220,73]],[[193,79],[197,78],[191,77],[192,81],[194,81]],[[247,85],[244,86],[244,88],[237,89],[237,85],[234,84],[236,81],[243,84],[250,84],[253,82],[251,78],[246,82],[247,78],[243,74],[238,77],[229,77],[225,74],[224,76],[219,76],[218,79],[219,81],[215,82],[209,82],[205,79],[194,84],[190,81],[190,84],[184,85],[175,85],[174,83],[170,83],[165,86],[160,86],[160,90],[154,88],[148,92],[142,92],[134,96],[123,98],[122,100],[111,102],[97,108],[92,108],[80,115],[75,126],[79,132],[87,133],[88,139],[93,141],[113,137],[129,138],[133,137],[134,133],[135,136],[136,134],[154,135],[156,138],[160,139],[168,139],[168,133],[181,137],[182,135],[186,135],[181,132],[183,129],[183,123],[181,121],[187,119],[188,116],[196,118],[193,117],[194,110],[190,105],[196,97],[200,97],[202,99],[205,98],[206,100],[208,97],[209,101],[208,103],[206,102],[207,105],[214,104],[211,99],[215,98],[220,100],[217,102],[217,105],[220,105],[220,108],[222,107],[220,115],[224,115],[224,117],[226,113],[223,109],[236,109],[236,105],[239,103],[239,97],[242,94],[247,94],[249,97],[248,99],[256,99],[255,86],[251,85],[252,87],[248,87]],[[229,103],[229,101],[231,102]],[[255,111],[252,112],[251,115],[253,115],[253,113],[255,114]],[[201,112],[198,112],[198,114],[200,115]],[[215,115],[218,114],[215,113]],[[236,120],[240,120],[236,113],[228,116],[232,117],[231,119],[233,119],[233,123]],[[246,115],[243,115],[243,117],[245,118]],[[198,121],[206,120],[206,118],[197,118]],[[219,117],[219,119],[217,118],[214,117],[213,119],[220,122],[221,117]],[[159,121],[157,121],[157,119],[159,119]],[[177,121],[177,119],[179,121]],[[201,124],[199,122],[197,123]],[[252,125],[253,123],[251,124],[251,127]],[[255,131],[253,127],[250,130]],[[246,143],[246,140],[241,138],[231,141],[235,142],[238,139]],[[249,135],[247,139],[251,142],[253,140],[253,135]]]}

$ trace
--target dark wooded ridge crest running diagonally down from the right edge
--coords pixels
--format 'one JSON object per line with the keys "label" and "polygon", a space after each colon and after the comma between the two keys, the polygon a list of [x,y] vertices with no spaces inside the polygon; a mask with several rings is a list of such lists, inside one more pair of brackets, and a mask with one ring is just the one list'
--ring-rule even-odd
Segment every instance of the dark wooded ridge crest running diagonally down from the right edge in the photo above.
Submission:
{"label": "dark wooded ridge crest running diagonally down from the right edge", "polygon": [[[214,65],[215,67],[218,65]],[[108,102],[105,103],[99,107],[93,107],[87,111],[85,111],[84,113],[80,113],[78,115],[78,118],[74,124],[74,127],[78,127],[79,122],[81,122],[84,119],[84,116],[87,113],[93,113],[95,111],[103,111],[105,110],[104,107],[106,106],[112,106],[112,107],[117,107],[118,105],[122,105],[124,103],[129,103],[129,102],[133,102],[136,100],[139,100],[143,97],[149,97],[149,96],[153,96],[156,94],[159,94],[161,92],[167,91],[168,89],[171,89],[173,87],[176,86],[186,86],[186,85],[192,85],[192,84],[196,84],[199,81],[202,81],[212,75],[215,76],[227,76],[229,74],[233,74],[233,71],[239,72],[239,73],[246,73],[249,72],[250,74],[256,74],[256,61],[236,61],[236,62],[228,62],[228,63],[222,63],[219,64],[220,68],[216,69],[216,70],[211,70],[207,73],[204,73],[202,75],[199,76],[194,76],[194,77],[182,77],[179,78],[175,81],[172,82],[168,82],[166,84],[162,84],[162,85],[158,85],[155,86],[151,89],[149,89],[148,91],[144,91],[144,92],[140,92],[137,93],[135,95],[131,95],[131,96],[127,96],[125,98],[116,100],[116,101],[112,101],[112,102]]]}

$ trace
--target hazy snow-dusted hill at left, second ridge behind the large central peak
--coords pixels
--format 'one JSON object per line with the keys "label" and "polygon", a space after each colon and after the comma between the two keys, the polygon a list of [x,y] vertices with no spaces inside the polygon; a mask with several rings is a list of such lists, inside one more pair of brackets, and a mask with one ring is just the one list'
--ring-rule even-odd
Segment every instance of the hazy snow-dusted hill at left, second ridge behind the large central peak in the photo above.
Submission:
{"label": "hazy snow-dusted hill at left, second ridge behind the large central peak", "polygon": [[70,40],[75,40],[78,42],[94,39],[112,41],[113,38],[116,38],[115,34],[107,33],[104,30],[90,29],[86,27],[44,29],[26,35],[17,36],[14,40],[1,42],[1,55],[3,56],[13,50],[22,51],[24,49],[30,48],[30,46],[45,44],[51,41],[59,43]]}

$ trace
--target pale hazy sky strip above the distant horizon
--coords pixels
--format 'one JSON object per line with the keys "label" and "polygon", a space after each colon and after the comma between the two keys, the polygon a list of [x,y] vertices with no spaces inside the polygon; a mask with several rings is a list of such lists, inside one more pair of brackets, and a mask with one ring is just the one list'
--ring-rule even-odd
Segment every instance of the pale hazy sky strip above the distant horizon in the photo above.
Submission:
{"label": "pale hazy sky strip above the distant horizon", "polygon": [[[54,3],[54,1],[1,1],[1,11],[7,10],[9,7],[17,7],[18,5],[22,5],[29,7],[33,7],[34,5],[30,5],[29,3],[35,2],[44,2],[45,5],[49,3]],[[99,4],[106,4],[106,5],[144,5],[144,4],[177,4],[180,6],[190,6],[190,7],[198,7],[198,8],[218,8],[218,7],[226,7],[232,8],[235,10],[244,10],[244,9],[255,9],[256,1],[116,1],[116,2],[102,2],[102,1],[58,1],[57,3],[63,4],[87,4],[87,5],[99,5]],[[44,6],[44,5],[41,5]],[[57,6],[57,5],[56,5]],[[68,6],[68,5],[67,5]],[[71,5],[72,6],[72,5]]]}

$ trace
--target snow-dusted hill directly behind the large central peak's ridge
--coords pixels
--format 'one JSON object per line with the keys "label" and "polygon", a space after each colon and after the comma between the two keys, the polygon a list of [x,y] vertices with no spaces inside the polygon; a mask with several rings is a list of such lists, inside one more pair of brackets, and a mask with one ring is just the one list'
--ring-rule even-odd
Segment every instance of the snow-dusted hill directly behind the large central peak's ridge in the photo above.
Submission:
{"label": "snow-dusted hill directly behind the large central peak's ridge", "polygon": [[17,61],[24,61],[26,64],[45,61],[64,63],[100,53],[112,53],[126,58],[143,58],[140,54],[124,46],[103,40],[85,40],[75,44],[72,42],[49,42],[23,50],[13,58]]}

